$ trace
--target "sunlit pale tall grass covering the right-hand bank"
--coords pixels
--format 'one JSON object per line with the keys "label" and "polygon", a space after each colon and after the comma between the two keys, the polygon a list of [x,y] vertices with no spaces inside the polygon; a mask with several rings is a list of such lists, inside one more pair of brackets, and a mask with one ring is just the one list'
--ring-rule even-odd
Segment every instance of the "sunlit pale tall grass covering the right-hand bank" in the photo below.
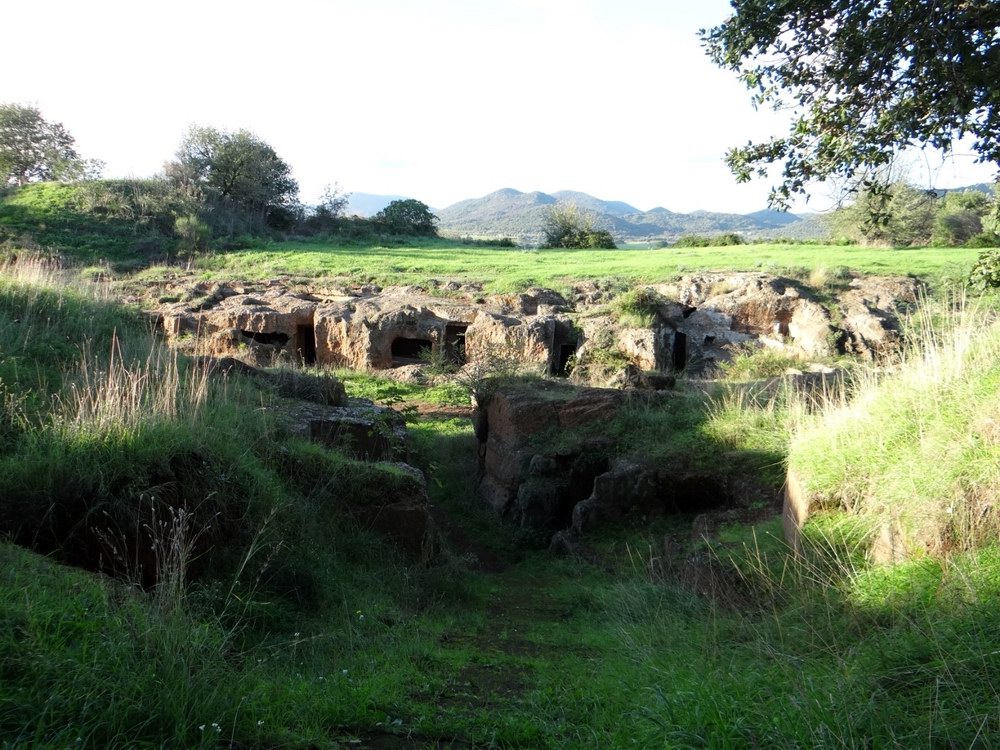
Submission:
{"label": "sunlit pale tall grass covering the right-hand bank", "polygon": [[[858,368],[796,425],[789,466],[815,506],[868,518],[893,556],[969,549],[1000,531],[1000,317],[964,296],[924,301],[906,345]],[[991,416],[992,415],[992,416]],[[886,538],[888,538],[886,537]]]}

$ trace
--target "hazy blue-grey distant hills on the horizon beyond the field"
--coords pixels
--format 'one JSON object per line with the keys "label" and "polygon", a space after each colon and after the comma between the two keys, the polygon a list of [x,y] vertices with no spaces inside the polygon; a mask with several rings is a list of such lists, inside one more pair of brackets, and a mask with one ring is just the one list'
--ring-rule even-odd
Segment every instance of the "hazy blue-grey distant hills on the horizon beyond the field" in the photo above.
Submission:
{"label": "hazy blue-grey distant hills on the horizon beyond the field", "polygon": [[756,237],[824,237],[820,221],[765,209],[752,214],[726,214],[712,211],[675,213],[657,207],[640,211],[622,201],[605,201],[587,193],[571,190],[547,194],[522,193],[504,188],[459,201],[437,212],[440,229],[477,237],[512,237],[521,244],[537,245],[549,208],[556,203],[573,203],[593,215],[596,227],[606,229],[618,242],[673,241],[683,234],[719,234],[738,232]]}

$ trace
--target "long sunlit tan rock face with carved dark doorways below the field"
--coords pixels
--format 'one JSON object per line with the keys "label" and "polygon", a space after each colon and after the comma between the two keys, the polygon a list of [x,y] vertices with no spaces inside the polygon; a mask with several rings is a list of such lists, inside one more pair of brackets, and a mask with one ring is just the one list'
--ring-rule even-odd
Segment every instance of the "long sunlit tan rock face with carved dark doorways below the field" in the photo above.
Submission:
{"label": "long sunlit tan rock face with carved dark doorways below the field", "polygon": [[[516,359],[538,372],[619,386],[625,365],[640,372],[708,371],[742,347],[770,347],[803,359],[855,353],[877,357],[900,343],[900,320],[919,283],[868,277],[820,295],[772,274],[701,273],[647,287],[658,299],[646,327],[613,310],[620,288],[574,287],[484,294],[477,285],[294,290],[281,282],[196,284],[183,302],[157,311],[167,336],[202,354],[251,364],[282,361],[379,370],[427,361]],[[609,307],[609,304],[611,306]]]}

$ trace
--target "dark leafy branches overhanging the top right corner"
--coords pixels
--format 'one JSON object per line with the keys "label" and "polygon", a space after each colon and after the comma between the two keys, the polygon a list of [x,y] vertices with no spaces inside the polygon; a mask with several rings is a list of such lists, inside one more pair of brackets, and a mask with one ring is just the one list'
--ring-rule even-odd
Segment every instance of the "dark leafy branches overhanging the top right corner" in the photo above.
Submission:
{"label": "dark leafy branches overhanging the top right corner", "polygon": [[948,150],[970,136],[1000,163],[996,0],[733,0],[702,30],[712,60],[756,105],[791,107],[788,135],[727,152],[737,181],[783,163],[773,206],[813,180],[865,179],[903,148]]}

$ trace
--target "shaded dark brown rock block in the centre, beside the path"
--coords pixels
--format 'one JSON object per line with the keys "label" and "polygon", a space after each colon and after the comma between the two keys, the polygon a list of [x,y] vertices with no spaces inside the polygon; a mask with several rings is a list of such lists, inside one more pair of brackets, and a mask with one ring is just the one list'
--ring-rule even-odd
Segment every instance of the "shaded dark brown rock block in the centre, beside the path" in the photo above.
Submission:
{"label": "shaded dark brown rock block in the centre, beside the path", "polygon": [[522,527],[579,535],[626,517],[724,505],[730,488],[677,467],[616,457],[603,434],[619,409],[669,394],[515,385],[477,415],[480,496]]}

